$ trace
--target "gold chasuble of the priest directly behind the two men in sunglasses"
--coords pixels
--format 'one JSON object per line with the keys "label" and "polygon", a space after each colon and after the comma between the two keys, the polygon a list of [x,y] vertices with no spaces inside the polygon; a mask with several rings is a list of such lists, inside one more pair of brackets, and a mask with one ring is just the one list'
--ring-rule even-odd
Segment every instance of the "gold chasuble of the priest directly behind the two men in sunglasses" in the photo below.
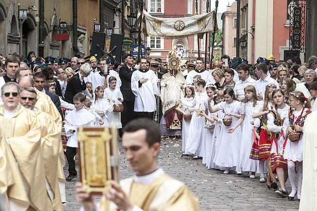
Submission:
{"label": "gold chasuble of the priest directly behind the two men in sunglasses", "polygon": [[59,130],[59,163],[58,163],[58,169],[57,169],[57,176],[59,178],[59,182],[63,184],[63,187],[61,187],[60,191],[65,193],[64,184],[66,180],[65,180],[65,175],[63,172],[63,167],[65,166],[65,155],[64,155],[63,144],[62,144],[61,136],[60,136],[61,116],[55,104],[53,103],[52,99],[48,95],[40,92],[38,89],[35,89],[35,91],[37,93],[37,99],[38,99],[38,101],[35,104],[35,107],[40,109],[42,112],[51,115]]}

